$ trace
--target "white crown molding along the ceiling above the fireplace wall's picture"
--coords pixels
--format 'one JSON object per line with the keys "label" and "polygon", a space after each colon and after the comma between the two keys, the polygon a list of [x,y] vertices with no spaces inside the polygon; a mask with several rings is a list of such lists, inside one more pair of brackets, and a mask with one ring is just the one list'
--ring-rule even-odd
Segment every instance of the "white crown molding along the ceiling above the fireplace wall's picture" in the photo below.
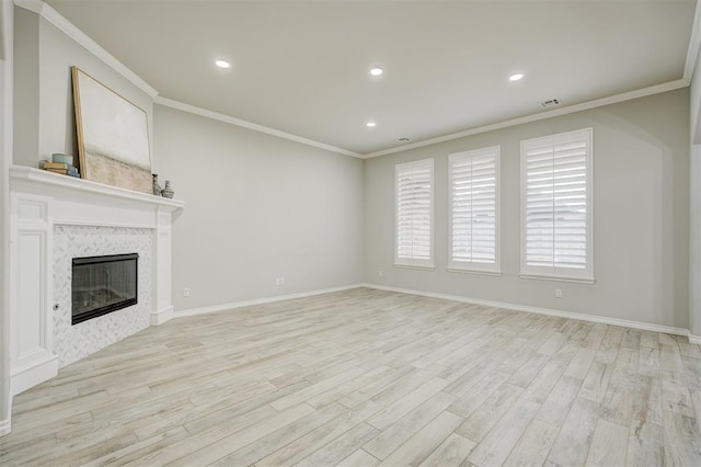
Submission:
{"label": "white crown molding along the ceiling above the fireplace wall's picture", "polygon": [[85,33],[80,31],[73,23],[64,18],[49,4],[41,0],[14,0],[14,4],[38,14],[39,16],[58,27],[64,34],[83,46],[88,52],[104,61],[107,66],[122,75],[141,91],[149,94],[151,99],[154,99],[158,95],[158,91],[156,89],[153,89],[149,83],[139,78],[122,61],[117,60],[112,54],[105,50],[96,42],[91,39]]}

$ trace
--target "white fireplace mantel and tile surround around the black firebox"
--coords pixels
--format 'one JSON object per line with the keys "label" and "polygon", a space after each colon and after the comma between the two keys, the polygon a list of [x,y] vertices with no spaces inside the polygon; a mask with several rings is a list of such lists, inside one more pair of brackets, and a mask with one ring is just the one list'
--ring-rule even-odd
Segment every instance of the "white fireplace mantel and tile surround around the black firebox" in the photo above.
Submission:
{"label": "white fireplace mantel and tile surround around the black firebox", "polygon": [[[27,167],[10,169],[13,395],[149,324],[168,321],[171,226],[184,203]],[[138,253],[136,305],[71,326],[71,260]]]}

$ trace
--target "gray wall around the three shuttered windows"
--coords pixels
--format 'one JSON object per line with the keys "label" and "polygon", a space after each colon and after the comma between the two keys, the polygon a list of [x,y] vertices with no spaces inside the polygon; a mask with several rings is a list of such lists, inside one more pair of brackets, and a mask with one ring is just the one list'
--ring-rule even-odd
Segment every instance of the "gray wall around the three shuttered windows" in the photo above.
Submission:
{"label": "gray wall around the three shuttered windows", "polygon": [[[594,127],[596,284],[519,278],[520,140],[585,127]],[[502,146],[503,276],[449,273],[448,155],[494,145]],[[397,269],[394,164],[429,157],[436,164],[436,270]],[[387,286],[687,328],[689,90],[682,89],[367,160],[365,277]],[[554,297],[555,288],[562,288],[562,298]]]}

